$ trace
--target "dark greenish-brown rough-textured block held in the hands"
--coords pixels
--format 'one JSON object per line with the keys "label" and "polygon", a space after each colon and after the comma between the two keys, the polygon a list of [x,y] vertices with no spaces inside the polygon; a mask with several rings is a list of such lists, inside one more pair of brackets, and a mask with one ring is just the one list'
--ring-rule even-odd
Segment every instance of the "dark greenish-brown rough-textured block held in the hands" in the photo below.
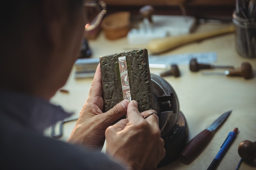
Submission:
{"label": "dark greenish-brown rough-textured block held in the hands", "polygon": [[138,102],[140,112],[153,109],[148,51],[139,49],[100,57],[105,111],[124,99],[118,61],[118,58],[123,56],[126,56],[132,100]]}

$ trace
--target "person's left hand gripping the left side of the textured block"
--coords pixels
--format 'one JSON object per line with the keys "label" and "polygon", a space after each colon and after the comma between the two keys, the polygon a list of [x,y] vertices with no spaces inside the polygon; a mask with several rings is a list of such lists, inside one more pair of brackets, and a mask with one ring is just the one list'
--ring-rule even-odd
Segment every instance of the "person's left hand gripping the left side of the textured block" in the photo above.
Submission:
{"label": "person's left hand gripping the left side of the textured block", "polygon": [[106,129],[126,115],[128,103],[128,100],[123,100],[106,113],[102,112],[101,70],[98,65],[88,99],[67,142],[101,149],[105,141]]}

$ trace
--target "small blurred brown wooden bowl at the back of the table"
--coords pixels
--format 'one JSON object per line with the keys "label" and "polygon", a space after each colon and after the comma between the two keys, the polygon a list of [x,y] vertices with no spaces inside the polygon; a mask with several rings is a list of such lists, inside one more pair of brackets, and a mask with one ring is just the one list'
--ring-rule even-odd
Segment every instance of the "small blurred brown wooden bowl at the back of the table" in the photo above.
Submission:
{"label": "small blurred brown wooden bowl at the back of the table", "polygon": [[125,37],[130,30],[130,13],[124,11],[110,14],[103,19],[101,27],[108,39]]}

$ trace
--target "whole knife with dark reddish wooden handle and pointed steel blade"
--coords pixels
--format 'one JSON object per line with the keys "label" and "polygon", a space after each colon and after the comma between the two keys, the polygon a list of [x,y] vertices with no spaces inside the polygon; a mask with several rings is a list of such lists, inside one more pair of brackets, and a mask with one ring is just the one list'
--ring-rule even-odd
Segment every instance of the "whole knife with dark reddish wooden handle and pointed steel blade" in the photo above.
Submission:
{"label": "whole knife with dark reddish wooden handle and pointed steel blade", "polygon": [[204,129],[198,135],[196,135],[182,150],[180,156],[182,159],[189,159],[191,155],[199,152],[211,139],[213,136],[213,132],[218,129],[218,127],[225,122],[225,120],[229,117],[232,111],[227,111],[223,113],[218,119],[216,119],[207,129]]}

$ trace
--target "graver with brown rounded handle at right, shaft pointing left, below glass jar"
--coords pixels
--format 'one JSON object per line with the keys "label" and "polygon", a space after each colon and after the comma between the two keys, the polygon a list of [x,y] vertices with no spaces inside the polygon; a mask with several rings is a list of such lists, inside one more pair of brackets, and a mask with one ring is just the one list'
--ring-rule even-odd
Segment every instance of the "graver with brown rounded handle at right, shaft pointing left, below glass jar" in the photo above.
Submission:
{"label": "graver with brown rounded handle at right, shaft pointing left, below glass jar", "polygon": [[243,76],[245,79],[253,77],[252,65],[243,62],[240,68],[228,70],[225,72],[202,72],[204,75],[227,75],[227,76]]}

